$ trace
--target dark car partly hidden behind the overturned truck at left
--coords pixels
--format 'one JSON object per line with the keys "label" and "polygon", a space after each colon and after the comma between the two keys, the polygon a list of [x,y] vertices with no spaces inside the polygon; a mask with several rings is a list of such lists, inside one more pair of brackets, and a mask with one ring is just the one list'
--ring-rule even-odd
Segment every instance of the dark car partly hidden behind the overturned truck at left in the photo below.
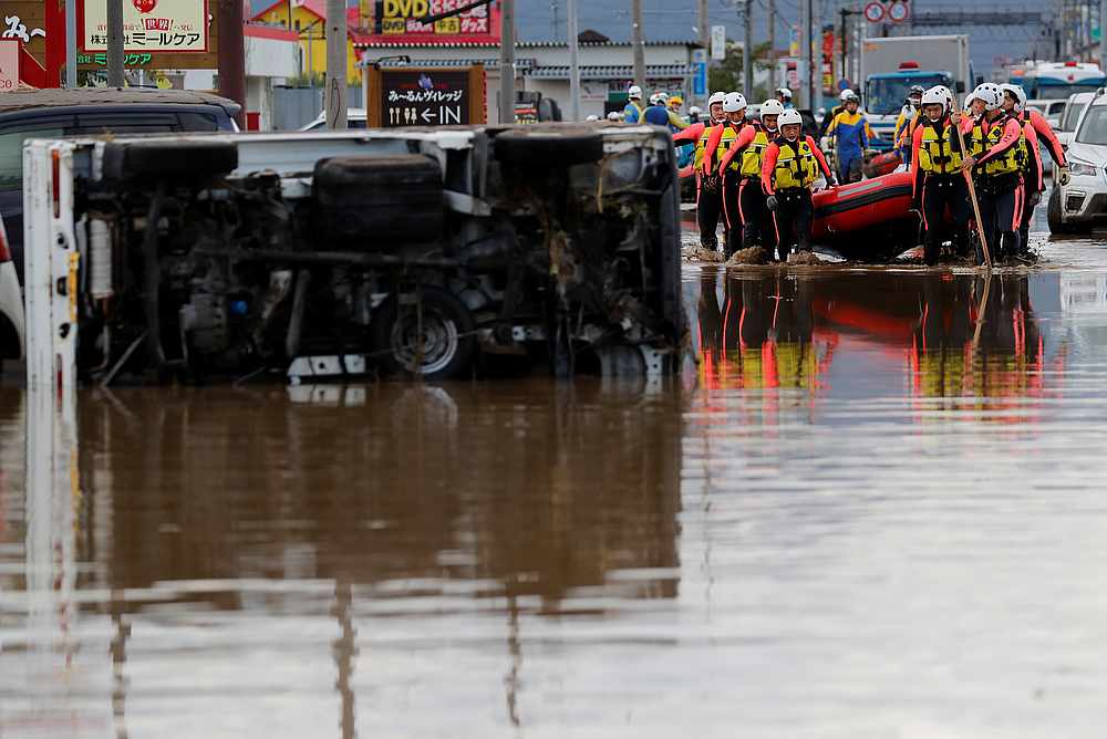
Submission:
{"label": "dark car partly hidden behind the overturned truck at left", "polygon": [[13,91],[0,95],[0,216],[23,274],[23,142],[95,134],[236,131],[240,106],[226,97],[143,87]]}

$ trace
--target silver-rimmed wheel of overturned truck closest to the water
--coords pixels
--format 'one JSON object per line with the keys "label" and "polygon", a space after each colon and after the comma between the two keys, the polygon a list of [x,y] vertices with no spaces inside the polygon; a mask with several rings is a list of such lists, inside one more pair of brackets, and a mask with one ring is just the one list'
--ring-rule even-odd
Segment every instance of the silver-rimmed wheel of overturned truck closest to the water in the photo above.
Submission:
{"label": "silver-rimmed wheel of overturned truck closest to the water", "polygon": [[370,326],[373,353],[386,374],[420,375],[424,379],[464,377],[473,370],[477,353],[476,324],[465,304],[438,288],[418,290],[422,304],[423,357],[420,346],[418,308],[415,301],[401,302],[393,295],[380,309]]}

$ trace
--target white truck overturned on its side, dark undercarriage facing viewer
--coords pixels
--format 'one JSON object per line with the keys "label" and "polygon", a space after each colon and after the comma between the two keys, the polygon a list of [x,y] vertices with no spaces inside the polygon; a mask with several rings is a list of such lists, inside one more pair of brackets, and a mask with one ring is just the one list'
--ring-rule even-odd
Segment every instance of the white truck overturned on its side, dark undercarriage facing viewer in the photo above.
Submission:
{"label": "white truck overturned on its side, dark undercarriage facing viewer", "polygon": [[24,174],[32,374],[679,363],[676,171],[650,127],[33,140]]}

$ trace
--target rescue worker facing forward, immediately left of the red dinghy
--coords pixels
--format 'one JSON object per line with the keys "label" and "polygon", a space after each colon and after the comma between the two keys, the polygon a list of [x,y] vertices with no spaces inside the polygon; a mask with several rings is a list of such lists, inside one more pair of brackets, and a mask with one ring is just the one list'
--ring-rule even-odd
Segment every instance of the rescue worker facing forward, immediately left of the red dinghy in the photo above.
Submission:
{"label": "rescue worker facing forward, immediately left of the red dinghy", "polygon": [[811,250],[811,185],[820,173],[827,187],[834,187],[835,179],[815,139],[800,135],[804,119],[798,111],[785,111],[777,123],[779,135],[765,149],[762,188],[776,225],[777,250],[786,261],[794,246]]}

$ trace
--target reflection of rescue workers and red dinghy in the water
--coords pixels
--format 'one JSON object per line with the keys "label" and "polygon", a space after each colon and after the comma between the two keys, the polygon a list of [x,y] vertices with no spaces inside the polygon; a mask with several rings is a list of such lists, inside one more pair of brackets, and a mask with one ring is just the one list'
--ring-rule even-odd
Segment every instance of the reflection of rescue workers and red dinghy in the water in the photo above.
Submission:
{"label": "reflection of rescue workers and red dinghy in the water", "polygon": [[[1056,282],[1056,275],[1038,275]],[[803,389],[899,373],[917,397],[1041,397],[1046,357],[1027,274],[705,270],[697,303],[701,382],[707,389]],[[863,376],[831,374],[836,352],[868,360]],[[1013,420],[1017,420],[1015,417]],[[1008,418],[1012,420],[1012,418]]]}

